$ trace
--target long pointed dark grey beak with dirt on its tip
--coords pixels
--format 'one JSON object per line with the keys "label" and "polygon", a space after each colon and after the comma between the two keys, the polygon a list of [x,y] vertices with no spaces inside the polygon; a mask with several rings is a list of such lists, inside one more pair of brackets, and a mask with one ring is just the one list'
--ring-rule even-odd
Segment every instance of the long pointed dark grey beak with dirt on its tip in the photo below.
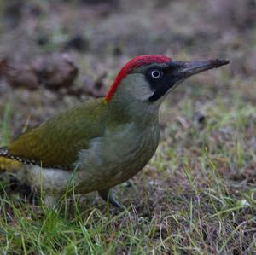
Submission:
{"label": "long pointed dark grey beak with dirt on its tip", "polygon": [[[172,62],[172,61],[171,61]],[[178,79],[185,79],[188,78],[196,73],[205,72],[212,68],[218,68],[230,63],[230,61],[226,60],[209,60],[209,61],[173,61],[176,63],[172,63],[177,65],[177,78]]]}

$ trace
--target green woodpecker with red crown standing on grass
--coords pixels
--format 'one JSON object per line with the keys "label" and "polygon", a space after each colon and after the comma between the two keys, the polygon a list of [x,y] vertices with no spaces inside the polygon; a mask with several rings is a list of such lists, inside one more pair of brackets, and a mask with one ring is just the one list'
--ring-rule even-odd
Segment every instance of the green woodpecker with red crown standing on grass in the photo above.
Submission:
{"label": "green woodpecker with red crown standing on grass", "polygon": [[120,206],[111,188],[137,174],[154,155],[166,95],[185,78],[228,63],[137,56],[119,71],[107,96],[59,113],[0,148],[0,169],[44,190],[50,204],[72,185],[76,194],[98,191]]}

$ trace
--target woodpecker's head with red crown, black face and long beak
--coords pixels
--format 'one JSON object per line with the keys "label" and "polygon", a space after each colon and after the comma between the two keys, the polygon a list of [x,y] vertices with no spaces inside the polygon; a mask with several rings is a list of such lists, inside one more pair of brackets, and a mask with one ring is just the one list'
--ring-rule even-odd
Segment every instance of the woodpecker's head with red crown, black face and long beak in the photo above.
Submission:
{"label": "woodpecker's head with red crown, black face and long beak", "polygon": [[165,55],[140,55],[119,71],[106,101],[124,102],[129,107],[159,108],[165,96],[190,76],[221,67],[230,61],[174,61]]}

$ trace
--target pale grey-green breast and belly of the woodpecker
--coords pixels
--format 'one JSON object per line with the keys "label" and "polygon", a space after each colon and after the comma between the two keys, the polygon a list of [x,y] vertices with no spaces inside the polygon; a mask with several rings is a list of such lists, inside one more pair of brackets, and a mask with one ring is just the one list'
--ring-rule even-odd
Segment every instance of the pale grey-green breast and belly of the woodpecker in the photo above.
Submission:
{"label": "pale grey-green breast and belly of the woodpecker", "polygon": [[110,188],[142,170],[154,155],[159,142],[158,125],[121,125],[106,130],[79,152],[78,181],[91,190]]}

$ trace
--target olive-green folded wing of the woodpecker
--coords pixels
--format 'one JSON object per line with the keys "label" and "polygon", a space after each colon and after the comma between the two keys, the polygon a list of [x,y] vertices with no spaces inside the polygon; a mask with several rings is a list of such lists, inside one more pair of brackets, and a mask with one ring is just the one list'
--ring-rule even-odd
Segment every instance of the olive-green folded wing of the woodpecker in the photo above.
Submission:
{"label": "olive-green folded wing of the woodpecker", "polygon": [[85,101],[60,113],[9,144],[9,154],[35,160],[43,166],[70,167],[80,149],[103,135],[107,105],[104,100]]}

